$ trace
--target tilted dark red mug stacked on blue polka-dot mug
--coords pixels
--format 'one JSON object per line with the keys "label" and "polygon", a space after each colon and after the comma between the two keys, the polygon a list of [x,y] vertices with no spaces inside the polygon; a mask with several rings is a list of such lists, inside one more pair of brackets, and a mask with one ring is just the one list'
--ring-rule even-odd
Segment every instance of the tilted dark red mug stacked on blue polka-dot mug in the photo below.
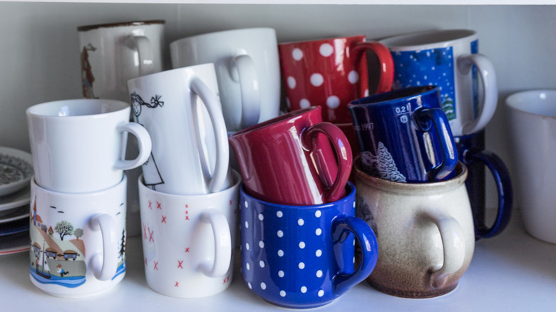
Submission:
{"label": "tilted dark red mug stacked on blue polka-dot mug", "polygon": [[[287,308],[323,306],[363,281],[376,237],[355,217],[351,147],[321,107],[294,110],[230,135],[240,189],[242,275]],[[355,245],[361,261],[355,267]]]}

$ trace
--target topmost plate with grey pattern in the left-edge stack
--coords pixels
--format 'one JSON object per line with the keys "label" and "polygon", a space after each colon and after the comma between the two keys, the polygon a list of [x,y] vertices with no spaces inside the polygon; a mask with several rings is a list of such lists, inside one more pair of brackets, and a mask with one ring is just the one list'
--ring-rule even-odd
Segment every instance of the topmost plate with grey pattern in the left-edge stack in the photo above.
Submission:
{"label": "topmost plate with grey pattern in the left-edge stack", "polygon": [[33,177],[33,158],[28,152],[0,146],[0,196],[29,185]]}

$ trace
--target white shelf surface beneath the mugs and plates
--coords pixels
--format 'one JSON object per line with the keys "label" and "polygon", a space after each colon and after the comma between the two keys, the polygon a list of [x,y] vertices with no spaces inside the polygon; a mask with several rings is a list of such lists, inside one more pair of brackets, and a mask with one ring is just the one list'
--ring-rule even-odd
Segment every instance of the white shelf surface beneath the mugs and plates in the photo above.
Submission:
{"label": "white shelf surface beneath the mugs and plates", "polygon": [[[0,258],[2,311],[276,311],[245,286],[239,271],[226,291],[206,298],[182,299],[151,290],[143,271],[140,237],[128,239],[128,271],[107,293],[81,299],[48,296],[29,280],[29,254]],[[240,254],[240,252],[236,252]],[[556,306],[556,245],[525,233],[514,213],[507,229],[481,239],[458,288],[445,296],[407,299],[389,296],[366,282],[318,311],[554,311]],[[46,308],[49,307],[49,308]]]}

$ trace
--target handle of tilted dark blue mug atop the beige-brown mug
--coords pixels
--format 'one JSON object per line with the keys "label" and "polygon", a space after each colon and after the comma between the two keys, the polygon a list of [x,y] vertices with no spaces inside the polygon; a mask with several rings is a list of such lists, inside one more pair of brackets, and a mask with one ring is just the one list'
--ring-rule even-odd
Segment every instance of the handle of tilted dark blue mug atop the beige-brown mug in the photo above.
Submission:
{"label": "handle of tilted dark blue mug atop the beige-brown mug", "polygon": [[427,172],[427,177],[429,181],[442,180],[455,170],[455,165],[458,165],[458,153],[455,150],[448,118],[441,108],[418,108],[413,118],[422,131],[430,131],[434,125],[436,137],[441,144],[442,162]]}

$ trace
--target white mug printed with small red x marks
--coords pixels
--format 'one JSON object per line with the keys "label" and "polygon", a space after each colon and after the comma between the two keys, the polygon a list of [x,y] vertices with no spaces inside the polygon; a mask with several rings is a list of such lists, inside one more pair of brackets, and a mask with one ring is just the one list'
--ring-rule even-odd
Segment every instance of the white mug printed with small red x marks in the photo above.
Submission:
{"label": "white mug printed with small red x marks", "polygon": [[156,192],[140,178],[143,256],[147,284],[167,296],[195,298],[232,283],[241,178],[221,192]]}

